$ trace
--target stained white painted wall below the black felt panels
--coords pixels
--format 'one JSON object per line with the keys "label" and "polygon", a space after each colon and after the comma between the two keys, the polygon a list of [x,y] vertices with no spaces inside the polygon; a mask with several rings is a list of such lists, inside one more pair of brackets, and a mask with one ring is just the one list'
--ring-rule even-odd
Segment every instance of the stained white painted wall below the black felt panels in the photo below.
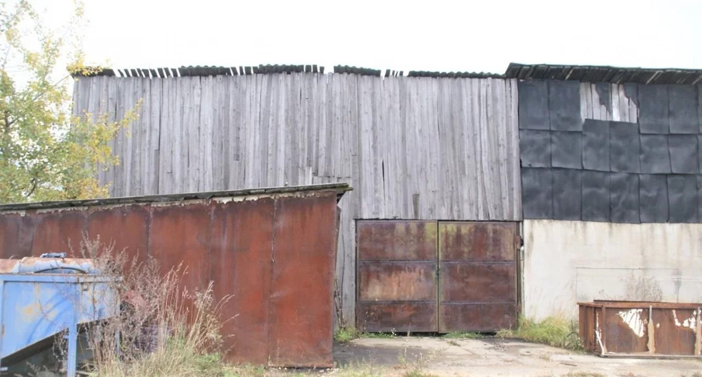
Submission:
{"label": "stained white painted wall below the black felt panels", "polygon": [[702,224],[524,220],[524,315],[580,301],[702,302]]}

